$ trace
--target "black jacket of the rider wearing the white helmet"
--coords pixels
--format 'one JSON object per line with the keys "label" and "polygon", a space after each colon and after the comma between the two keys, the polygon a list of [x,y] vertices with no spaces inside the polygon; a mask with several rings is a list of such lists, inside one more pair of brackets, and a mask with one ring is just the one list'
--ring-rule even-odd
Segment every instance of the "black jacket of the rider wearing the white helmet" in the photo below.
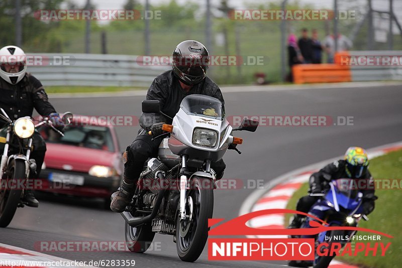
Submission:
{"label": "black jacket of the rider wearing the white helmet", "polygon": [[[42,83],[30,73],[12,85],[0,78],[0,107],[14,120],[23,116],[32,116],[34,108],[40,115],[47,116],[56,112],[50,104]],[[0,121],[0,127],[4,125]]]}

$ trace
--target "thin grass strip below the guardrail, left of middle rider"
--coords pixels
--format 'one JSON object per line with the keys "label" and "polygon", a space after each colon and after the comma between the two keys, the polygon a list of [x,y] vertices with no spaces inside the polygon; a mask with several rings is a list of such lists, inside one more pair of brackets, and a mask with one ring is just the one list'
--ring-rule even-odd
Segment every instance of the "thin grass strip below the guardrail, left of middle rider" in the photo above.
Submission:
{"label": "thin grass strip below the guardrail, left of middle rider", "polygon": [[89,93],[89,92],[118,92],[129,90],[141,90],[144,87],[121,86],[46,86],[46,93]]}

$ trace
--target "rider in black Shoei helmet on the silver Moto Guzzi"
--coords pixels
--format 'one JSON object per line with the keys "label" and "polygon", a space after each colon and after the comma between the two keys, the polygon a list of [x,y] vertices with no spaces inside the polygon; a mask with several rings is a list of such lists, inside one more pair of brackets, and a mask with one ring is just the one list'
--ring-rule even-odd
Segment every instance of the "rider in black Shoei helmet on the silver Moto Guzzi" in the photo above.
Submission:
{"label": "rider in black Shoei helmet on the silver Moto Guzzi", "polygon": [[[196,61],[194,59],[199,59]],[[215,97],[225,104],[221,89],[208,76],[209,53],[207,48],[193,40],[183,41],[173,51],[172,70],[157,76],[148,89],[147,100],[159,100],[161,111],[174,117],[181,100],[190,94],[203,94]],[[202,64],[199,64],[202,63]],[[124,174],[119,190],[113,194],[111,210],[123,212],[131,201],[135,186],[148,158],[157,157],[159,144],[163,137],[152,141],[148,131],[156,137],[163,133],[162,124],[171,123],[160,113],[143,113],[139,119],[141,129],[131,146],[123,154]],[[225,163],[223,160],[212,163],[217,179],[222,178]]]}

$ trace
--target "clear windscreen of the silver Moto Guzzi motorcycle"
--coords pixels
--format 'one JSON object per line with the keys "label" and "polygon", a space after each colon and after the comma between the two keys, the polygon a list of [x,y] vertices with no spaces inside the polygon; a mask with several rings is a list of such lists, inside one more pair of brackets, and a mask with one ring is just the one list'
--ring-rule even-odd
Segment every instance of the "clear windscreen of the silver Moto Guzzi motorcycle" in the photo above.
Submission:
{"label": "clear windscreen of the silver Moto Guzzi motorcycle", "polygon": [[200,94],[188,95],[180,103],[187,114],[222,120],[225,117],[222,102],[214,97]]}

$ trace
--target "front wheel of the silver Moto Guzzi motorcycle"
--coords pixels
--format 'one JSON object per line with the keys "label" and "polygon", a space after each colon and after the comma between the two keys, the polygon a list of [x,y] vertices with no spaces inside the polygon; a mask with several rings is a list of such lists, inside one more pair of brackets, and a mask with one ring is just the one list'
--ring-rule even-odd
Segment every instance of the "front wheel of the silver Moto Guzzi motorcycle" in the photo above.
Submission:
{"label": "front wheel of the silver Moto Guzzi motorcycle", "polygon": [[194,177],[191,189],[187,190],[186,214],[190,219],[176,222],[176,249],[179,258],[183,261],[195,261],[203,252],[208,239],[208,219],[212,218],[214,210],[213,187],[202,188],[202,181]]}

